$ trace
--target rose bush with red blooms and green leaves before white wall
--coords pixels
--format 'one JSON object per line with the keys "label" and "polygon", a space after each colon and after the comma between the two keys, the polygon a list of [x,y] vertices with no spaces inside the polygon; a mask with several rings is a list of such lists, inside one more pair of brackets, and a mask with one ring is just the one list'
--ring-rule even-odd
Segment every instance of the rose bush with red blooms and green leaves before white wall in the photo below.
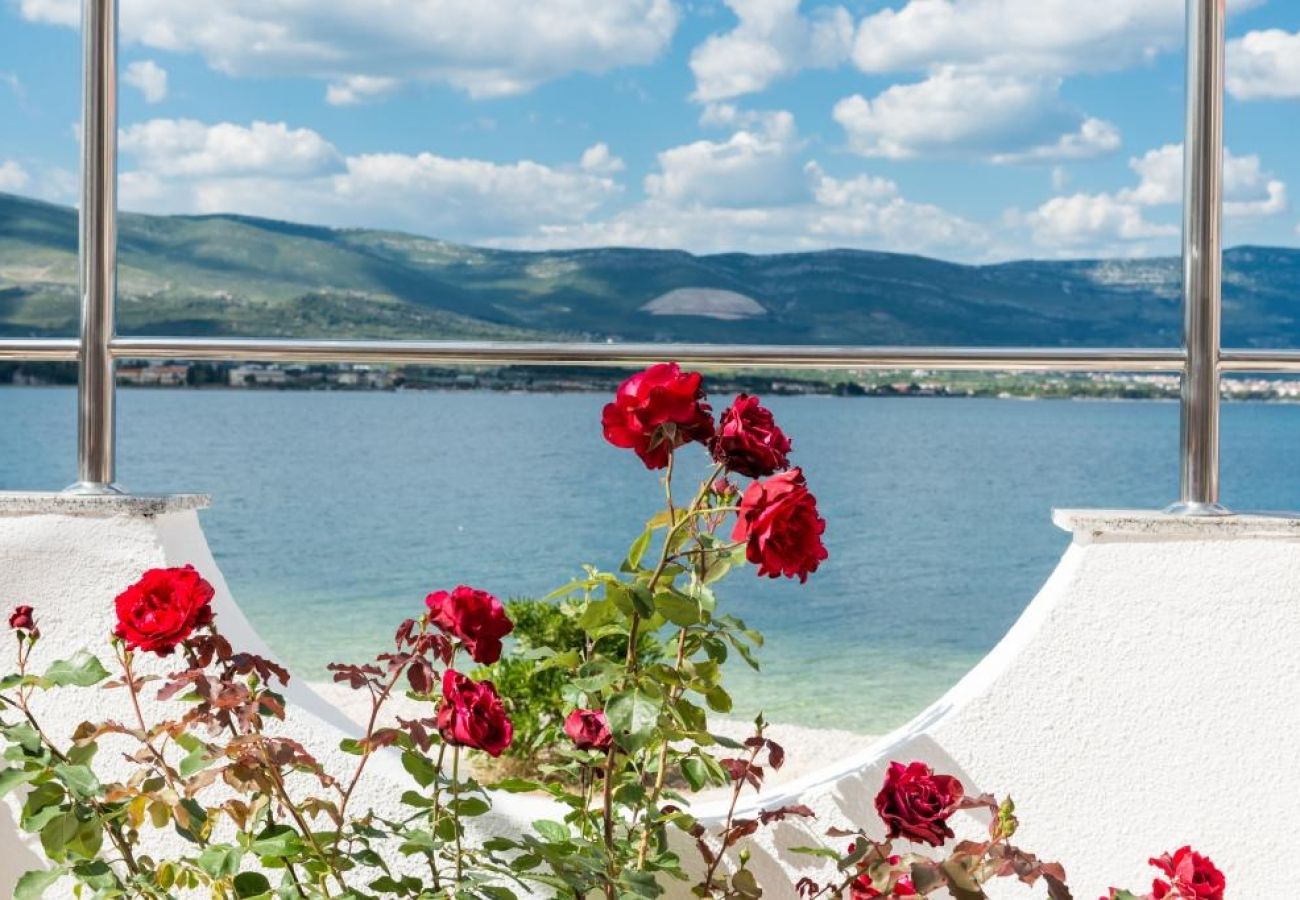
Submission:
{"label": "rose bush with red blooms and green leaves before white wall", "polygon": [[[105,900],[625,900],[672,884],[719,900],[783,897],[788,887],[763,886],[749,867],[746,841],[786,821],[826,835],[796,851],[822,864],[816,879],[797,884],[805,900],[976,900],[998,878],[1071,897],[1060,865],[1011,843],[1010,800],[971,796],[919,761],[890,763],[875,797],[875,835],[816,828],[798,804],[737,812],[785,750],[762,717],[744,741],[710,731],[710,714],[732,709],[725,665],[738,657],[758,668],[762,645],[715,590],[746,562],[760,576],[806,580],[828,558],[826,522],[802,470],[789,467],[790,440],[758,398],[737,397],[715,423],[699,373],[654,365],[619,388],[602,427],[610,443],[664,471],[663,510],[616,571],[586,567],[556,590],[538,618],[546,627],[530,623],[514,654],[503,655],[515,626],[502,603],[460,585],[429,593],[372,661],[332,665],[334,680],[368,701],[364,731],[339,747],[352,758],[342,771],[286,732],[280,691],[289,672],[230,645],[212,585],[190,566],[150,570],[116,597],[110,667],[81,652],[38,671],[39,605],[13,609],[16,668],[0,679],[0,795],[20,792],[18,825],[49,862],[20,879],[16,900],[35,900],[61,879],[77,896]],[[693,443],[714,466],[684,496],[675,460]],[[139,654],[172,671],[139,671]],[[493,672],[514,685],[545,683],[541,696],[559,709],[520,709]],[[104,704],[88,696],[87,721],[53,736],[39,702],[53,689],[125,693],[117,708],[129,718],[96,718]],[[391,711],[403,695],[413,715]],[[146,717],[142,697],[164,711]],[[512,713],[530,723],[530,740],[552,740],[545,754],[530,748],[526,778],[490,791],[463,757],[510,752]],[[411,787],[385,809],[358,809],[377,753],[400,760]],[[104,757],[125,774],[98,765]],[[690,795],[706,788],[729,799],[712,827],[689,813]],[[476,838],[469,823],[500,792],[550,797],[552,818]],[[952,819],[963,810],[988,819],[985,835],[956,839]],[[177,836],[181,849],[159,844],[160,835]],[[1190,848],[1152,865],[1161,877],[1150,893],[1110,896],[1223,900],[1223,875]]]}

